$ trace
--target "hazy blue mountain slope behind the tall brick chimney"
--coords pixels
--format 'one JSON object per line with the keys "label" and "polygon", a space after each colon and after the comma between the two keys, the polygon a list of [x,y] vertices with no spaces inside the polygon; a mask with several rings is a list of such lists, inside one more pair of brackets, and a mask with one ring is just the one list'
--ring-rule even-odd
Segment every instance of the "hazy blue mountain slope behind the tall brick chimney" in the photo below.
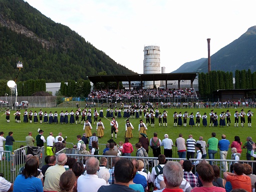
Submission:
{"label": "hazy blue mountain slope behind the tall brick chimney", "polygon": [[[200,61],[203,60],[186,62],[173,72],[207,72],[207,58],[201,64]],[[210,61],[211,70],[231,71],[233,75],[235,70],[256,71],[256,26],[249,27],[239,38],[212,54]],[[198,67],[194,67],[196,64]]]}

